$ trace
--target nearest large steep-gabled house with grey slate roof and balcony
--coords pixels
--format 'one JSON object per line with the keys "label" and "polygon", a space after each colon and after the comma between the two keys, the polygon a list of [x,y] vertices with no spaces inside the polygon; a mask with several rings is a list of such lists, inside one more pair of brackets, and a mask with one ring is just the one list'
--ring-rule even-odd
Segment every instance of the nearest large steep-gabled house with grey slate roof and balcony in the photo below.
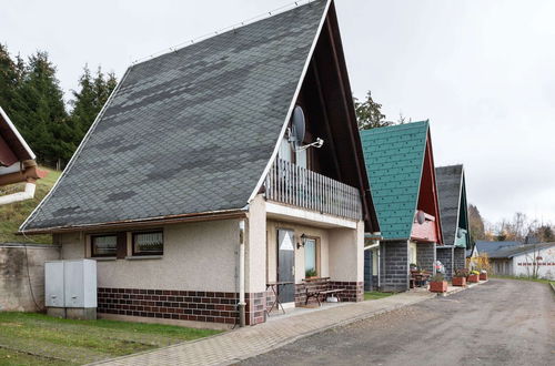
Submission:
{"label": "nearest large steep-gabled house with grey slate roof and balcony", "polygon": [[97,260],[101,317],[202,327],[304,305],[309,277],[363,299],[365,230],[379,223],[323,0],[129,68],[21,226]]}

